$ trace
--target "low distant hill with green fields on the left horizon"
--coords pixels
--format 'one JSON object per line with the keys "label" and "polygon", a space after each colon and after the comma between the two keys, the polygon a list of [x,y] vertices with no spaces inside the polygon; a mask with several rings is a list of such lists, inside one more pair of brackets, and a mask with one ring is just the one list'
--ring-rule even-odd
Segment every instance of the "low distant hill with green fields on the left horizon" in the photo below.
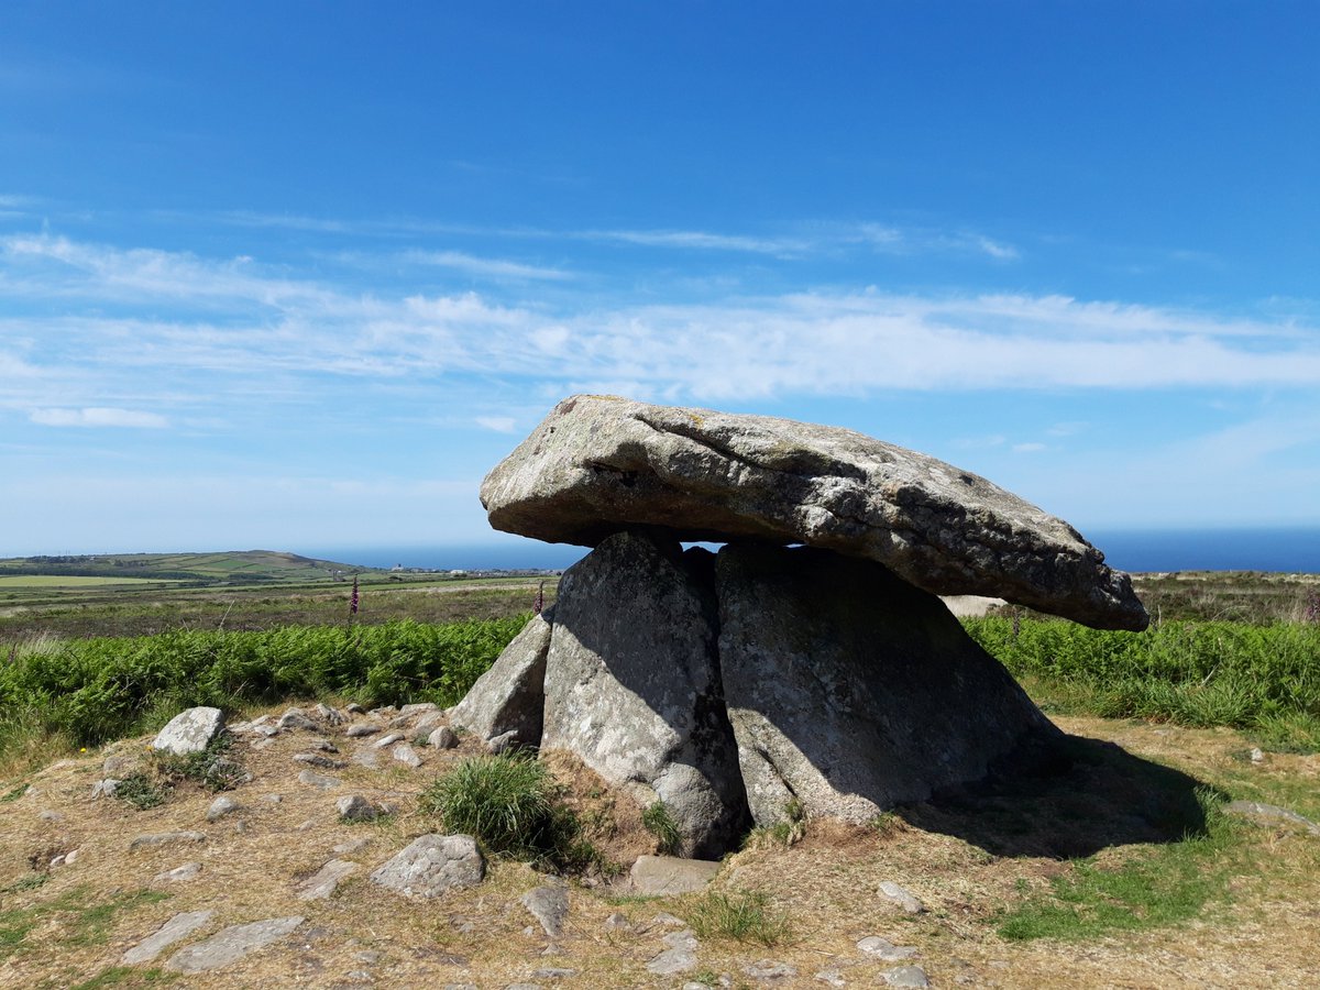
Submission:
{"label": "low distant hill with green fields on the left horizon", "polygon": [[280,550],[224,553],[99,553],[73,557],[9,557],[0,560],[0,577],[88,577],[195,581],[199,583],[261,583],[331,579],[375,574],[338,561],[313,560]]}

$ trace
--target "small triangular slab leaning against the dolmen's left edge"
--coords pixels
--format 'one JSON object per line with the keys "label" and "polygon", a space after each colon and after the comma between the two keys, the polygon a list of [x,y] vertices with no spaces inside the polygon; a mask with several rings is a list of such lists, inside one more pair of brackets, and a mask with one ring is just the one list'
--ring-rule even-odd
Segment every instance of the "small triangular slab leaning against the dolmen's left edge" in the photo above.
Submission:
{"label": "small triangular slab leaning against the dolmen's left edge", "polygon": [[545,656],[552,631],[545,612],[533,615],[463,700],[449,710],[449,723],[470,730],[482,741],[513,733],[527,746],[540,744]]}

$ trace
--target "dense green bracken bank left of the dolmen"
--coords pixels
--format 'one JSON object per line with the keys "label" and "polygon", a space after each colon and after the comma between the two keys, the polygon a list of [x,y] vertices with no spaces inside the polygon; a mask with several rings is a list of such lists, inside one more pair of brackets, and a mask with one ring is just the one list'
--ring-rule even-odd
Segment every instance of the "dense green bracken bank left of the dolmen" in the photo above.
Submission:
{"label": "dense green bracken bank left of the dolmen", "polygon": [[176,631],[25,652],[0,664],[0,758],[33,737],[91,746],[153,731],[193,705],[235,711],[322,696],[453,705],[525,622]]}

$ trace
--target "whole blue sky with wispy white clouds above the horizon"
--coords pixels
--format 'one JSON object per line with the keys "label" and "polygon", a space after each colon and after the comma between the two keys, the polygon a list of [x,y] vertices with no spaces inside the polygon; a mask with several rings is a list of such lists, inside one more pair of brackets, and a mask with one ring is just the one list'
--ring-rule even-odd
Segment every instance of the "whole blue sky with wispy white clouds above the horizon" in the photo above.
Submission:
{"label": "whole blue sky with wispy white clouds above the horizon", "polygon": [[0,556],[480,544],[562,396],[1320,525],[1313,3],[8,3]]}

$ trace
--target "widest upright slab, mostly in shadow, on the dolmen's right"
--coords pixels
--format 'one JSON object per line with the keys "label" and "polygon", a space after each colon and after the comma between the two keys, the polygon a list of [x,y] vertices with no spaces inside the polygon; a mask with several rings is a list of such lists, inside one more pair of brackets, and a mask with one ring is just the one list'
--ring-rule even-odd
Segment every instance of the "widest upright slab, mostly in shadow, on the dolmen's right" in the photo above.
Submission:
{"label": "widest upright slab, mostly in shadow, on the dolmen's right", "polygon": [[730,544],[719,664],[752,817],[866,821],[1057,730],[932,594],[871,561]]}

